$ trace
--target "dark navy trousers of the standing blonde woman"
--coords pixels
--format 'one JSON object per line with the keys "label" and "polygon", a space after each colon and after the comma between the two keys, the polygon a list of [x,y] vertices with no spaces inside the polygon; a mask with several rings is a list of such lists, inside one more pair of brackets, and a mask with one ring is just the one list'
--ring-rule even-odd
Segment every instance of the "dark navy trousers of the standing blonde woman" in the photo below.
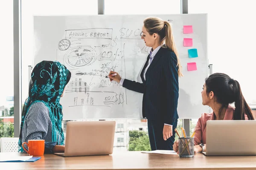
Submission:
{"label": "dark navy trousers of the standing blonde woman", "polygon": [[177,119],[172,126],[172,136],[166,141],[163,139],[163,120],[148,120],[148,136],[151,150],[173,150],[172,145],[175,142],[175,128]]}

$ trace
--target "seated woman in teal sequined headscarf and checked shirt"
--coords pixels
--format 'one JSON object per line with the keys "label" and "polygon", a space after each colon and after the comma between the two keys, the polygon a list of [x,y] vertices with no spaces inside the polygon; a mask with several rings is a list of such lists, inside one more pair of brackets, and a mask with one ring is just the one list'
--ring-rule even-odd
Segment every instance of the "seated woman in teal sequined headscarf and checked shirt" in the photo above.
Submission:
{"label": "seated woman in teal sequined headscarf and checked shirt", "polygon": [[70,77],[70,71],[57,61],[42,61],[33,69],[20,124],[21,152],[22,143],[32,139],[45,140],[44,153],[64,152],[60,98]]}

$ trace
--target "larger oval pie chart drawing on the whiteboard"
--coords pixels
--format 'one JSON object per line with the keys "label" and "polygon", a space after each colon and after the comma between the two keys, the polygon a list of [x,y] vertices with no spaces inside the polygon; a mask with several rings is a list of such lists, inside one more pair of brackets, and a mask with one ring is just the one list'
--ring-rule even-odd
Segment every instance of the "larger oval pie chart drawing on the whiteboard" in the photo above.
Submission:
{"label": "larger oval pie chart drawing on the whiteboard", "polygon": [[64,56],[64,63],[76,69],[86,65],[92,65],[97,58],[96,51],[89,45],[73,48]]}

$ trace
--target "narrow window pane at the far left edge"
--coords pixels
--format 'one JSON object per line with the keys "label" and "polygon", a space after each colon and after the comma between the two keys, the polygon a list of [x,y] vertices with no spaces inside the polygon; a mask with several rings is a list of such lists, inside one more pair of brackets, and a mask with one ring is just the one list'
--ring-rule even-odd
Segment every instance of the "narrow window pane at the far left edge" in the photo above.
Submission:
{"label": "narrow window pane at the far left edge", "polygon": [[0,62],[0,138],[14,136],[13,117],[13,1],[0,2],[2,61]]}

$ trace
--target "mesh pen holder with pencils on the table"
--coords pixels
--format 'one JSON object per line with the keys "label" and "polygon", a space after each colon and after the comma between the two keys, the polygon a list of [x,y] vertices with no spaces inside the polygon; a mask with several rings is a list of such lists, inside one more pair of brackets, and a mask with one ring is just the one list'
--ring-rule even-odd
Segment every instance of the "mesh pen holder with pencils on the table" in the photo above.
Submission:
{"label": "mesh pen holder with pencils on the table", "polygon": [[179,156],[194,157],[194,137],[179,138]]}

